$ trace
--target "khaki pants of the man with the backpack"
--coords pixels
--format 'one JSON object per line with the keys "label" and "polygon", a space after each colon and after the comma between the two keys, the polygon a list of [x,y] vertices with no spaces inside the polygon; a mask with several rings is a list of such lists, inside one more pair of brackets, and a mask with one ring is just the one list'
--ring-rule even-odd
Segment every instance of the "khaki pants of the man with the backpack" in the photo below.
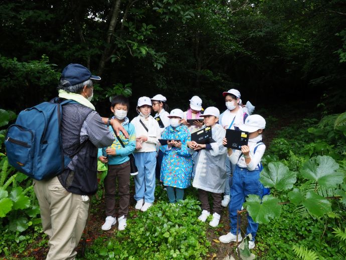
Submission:
{"label": "khaki pants of the man with the backpack", "polygon": [[74,249],[88,218],[89,198],[83,201],[81,195],[65,190],[58,177],[34,180],[34,190],[40,204],[43,231],[49,236],[47,259],[74,259],[77,254]]}

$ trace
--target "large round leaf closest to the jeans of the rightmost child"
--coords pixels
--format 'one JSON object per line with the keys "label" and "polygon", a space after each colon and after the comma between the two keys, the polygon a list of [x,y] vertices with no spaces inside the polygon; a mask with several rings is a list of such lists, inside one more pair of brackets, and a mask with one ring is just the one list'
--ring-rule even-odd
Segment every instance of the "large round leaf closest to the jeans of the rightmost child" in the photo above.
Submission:
{"label": "large round leaf closest to the jeans of the rightmost child", "polygon": [[280,162],[268,164],[268,170],[263,169],[260,181],[265,187],[274,187],[277,190],[289,190],[297,181],[297,174],[291,172],[287,166]]}

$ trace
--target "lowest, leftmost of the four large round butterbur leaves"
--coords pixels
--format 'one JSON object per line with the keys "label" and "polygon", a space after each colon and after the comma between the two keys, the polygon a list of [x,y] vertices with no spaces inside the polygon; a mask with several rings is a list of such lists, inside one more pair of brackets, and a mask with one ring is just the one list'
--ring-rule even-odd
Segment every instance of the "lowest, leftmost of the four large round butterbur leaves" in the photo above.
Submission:
{"label": "lowest, leftmost of the four large round butterbur leaves", "polygon": [[280,201],[272,195],[265,195],[262,202],[259,196],[249,195],[244,203],[252,219],[260,224],[269,223],[271,218],[278,217],[281,213]]}

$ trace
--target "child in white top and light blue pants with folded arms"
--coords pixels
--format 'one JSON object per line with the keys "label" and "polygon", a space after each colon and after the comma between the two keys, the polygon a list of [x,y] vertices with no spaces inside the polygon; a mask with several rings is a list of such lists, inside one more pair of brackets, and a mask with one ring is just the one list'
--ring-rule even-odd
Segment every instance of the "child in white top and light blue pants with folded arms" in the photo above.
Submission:
{"label": "child in white top and light blue pants with folded arms", "polygon": [[150,115],[151,107],[149,97],[140,97],[137,102],[139,115],[131,121],[137,137],[133,153],[138,169],[138,174],[134,177],[134,199],[137,201],[135,209],[141,211],[146,211],[154,202],[156,145],[161,136],[157,121]]}

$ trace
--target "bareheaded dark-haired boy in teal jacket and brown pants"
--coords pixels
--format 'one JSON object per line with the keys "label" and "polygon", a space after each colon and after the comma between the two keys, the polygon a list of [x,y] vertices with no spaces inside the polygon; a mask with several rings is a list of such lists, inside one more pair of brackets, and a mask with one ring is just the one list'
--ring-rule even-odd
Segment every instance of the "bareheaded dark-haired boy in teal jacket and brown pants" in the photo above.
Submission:
{"label": "bareheaded dark-haired boy in teal jacket and brown pants", "polygon": [[[114,142],[110,147],[98,150],[98,159],[102,163],[108,164],[108,173],[104,179],[106,220],[102,225],[102,230],[109,230],[116,223],[116,182],[118,182],[119,189],[118,230],[124,230],[126,227],[126,217],[130,201],[130,161],[128,155],[133,153],[136,148],[134,126],[129,123],[129,119],[126,116],[128,108],[129,102],[126,97],[122,95],[113,97],[110,107],[110,110],[114,113],[112,118],[121,123],[127,131],[129,139],[125,139],[121,132],[117,137],[112,126],[109,126],[110,132],[114,136]],[[119,142],[119,139],[122,141],[124,147]]]}

